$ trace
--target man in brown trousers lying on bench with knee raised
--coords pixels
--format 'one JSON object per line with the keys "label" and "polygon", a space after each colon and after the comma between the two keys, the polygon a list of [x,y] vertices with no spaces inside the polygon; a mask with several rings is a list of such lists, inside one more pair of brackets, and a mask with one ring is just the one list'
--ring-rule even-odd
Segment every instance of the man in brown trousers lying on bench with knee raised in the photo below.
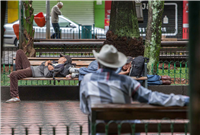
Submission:
{"label": "man in brown trousers lying on bench with knee raised", "polygon": [[26,77],[65,77],[69,74],[68,68],[71,66],[71,58],[69,56],[60,55],[58,62],[46,61],[40,66],[31,66],[28,58],[23,50],[19,49],[16,53],[15,67],[10,77],[10,95],[11,99],[6,103],[20,102],[18,91],[18,80]]}

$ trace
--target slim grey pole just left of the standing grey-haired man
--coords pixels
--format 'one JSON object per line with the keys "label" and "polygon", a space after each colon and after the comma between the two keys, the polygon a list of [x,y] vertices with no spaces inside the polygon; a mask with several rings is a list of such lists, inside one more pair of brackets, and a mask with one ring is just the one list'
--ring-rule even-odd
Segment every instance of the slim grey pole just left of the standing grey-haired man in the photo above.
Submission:
{"label": "slim grey pole just left of the standing grey-haired man", "polygon": [[46,0],[46,39],[50,39],[50,0]]}

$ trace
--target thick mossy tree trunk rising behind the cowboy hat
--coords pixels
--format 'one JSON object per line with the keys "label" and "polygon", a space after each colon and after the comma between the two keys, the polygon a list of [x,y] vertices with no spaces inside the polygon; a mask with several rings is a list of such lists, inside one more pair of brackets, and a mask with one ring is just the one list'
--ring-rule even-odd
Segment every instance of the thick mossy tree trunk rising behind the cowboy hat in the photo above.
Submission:
{"label": "thick mossy tree trunk rising behind the cowboy hat", "polygon": [[135,0],[112,0],[110,26],[104,44],[114,45],[126,56],[144,54]]}

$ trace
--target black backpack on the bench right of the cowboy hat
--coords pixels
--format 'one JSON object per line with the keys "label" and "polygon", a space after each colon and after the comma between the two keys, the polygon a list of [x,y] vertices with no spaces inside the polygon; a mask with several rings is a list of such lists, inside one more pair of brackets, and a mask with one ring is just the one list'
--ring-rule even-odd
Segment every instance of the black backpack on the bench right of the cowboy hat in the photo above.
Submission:
{"label": "black backpack on the bench right of the cowboy hat", "polygon": [[129,76],[134,76],[137,78],[141,77],[144,72],[145,60],[147,60],[148,62],[149,59],[143,56],[138,56],[135,59],[133,59],[131,63],[131,70],[130,70]]}

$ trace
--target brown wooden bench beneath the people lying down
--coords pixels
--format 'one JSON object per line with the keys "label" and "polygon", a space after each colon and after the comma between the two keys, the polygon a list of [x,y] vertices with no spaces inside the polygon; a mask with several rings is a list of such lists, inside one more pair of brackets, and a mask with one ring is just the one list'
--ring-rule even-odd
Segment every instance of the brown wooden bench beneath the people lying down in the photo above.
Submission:
{"label": "brown wooden bench beneath the people lying down", "polygon": [[[42,62],[51,60],[51,61],[57,61],[59,57],[28,57],[31,66],[39,66]],[[77,68],[80,67],[88,67],[88,65],[94,61],[95,58],[72,58],[72,63],[76,64]],[[146,67],[145,67],[146,68]],[[13,58],[13,70],[15,70],[15,57]],[[147,77],[132,77],[135,80],[144,80],[145,84],[144,86],[147,88]],[[23,78],[21,80],[53,80],[53,78],[46,78],[46,77],[27,77]],[[78,78],[73,79],[67,79],[66,77],[55,77],[55,80],[78,80]]]}

